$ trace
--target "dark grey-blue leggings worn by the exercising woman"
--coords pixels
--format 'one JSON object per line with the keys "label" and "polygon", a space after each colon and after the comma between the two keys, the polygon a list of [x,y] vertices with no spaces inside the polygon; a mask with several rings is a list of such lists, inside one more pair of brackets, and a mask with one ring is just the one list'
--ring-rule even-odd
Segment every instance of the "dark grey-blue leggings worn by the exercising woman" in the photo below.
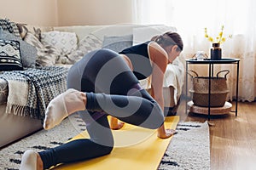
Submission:
{"label": "dark grey-blue leggings worn by the exercising woman", "polygon": [[90,139],[73,140],[39,152],[44,168],[109,154],[113,150],[113,134],[108,115],[151,129],[164,122],[160,106],[140,87],[124,59],[111,50],[90,52],[73,65],[67,75],[67,88],[86,93],[86,111],[79,111],[79,115]]}

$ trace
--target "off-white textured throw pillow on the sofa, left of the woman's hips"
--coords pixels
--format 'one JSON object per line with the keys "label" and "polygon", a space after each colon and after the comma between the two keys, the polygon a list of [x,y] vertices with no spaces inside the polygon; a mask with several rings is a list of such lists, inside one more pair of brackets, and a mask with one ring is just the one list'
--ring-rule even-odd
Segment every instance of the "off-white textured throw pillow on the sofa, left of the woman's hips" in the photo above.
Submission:
{"label": "off-white textured throw pillow on the sofa, left of the woman's hips", "polygon": [[78,48],[78,38],[74,32],[47,31],[41,33],[41,42],[44,46],[53,46],[61,54],[70,54]]}

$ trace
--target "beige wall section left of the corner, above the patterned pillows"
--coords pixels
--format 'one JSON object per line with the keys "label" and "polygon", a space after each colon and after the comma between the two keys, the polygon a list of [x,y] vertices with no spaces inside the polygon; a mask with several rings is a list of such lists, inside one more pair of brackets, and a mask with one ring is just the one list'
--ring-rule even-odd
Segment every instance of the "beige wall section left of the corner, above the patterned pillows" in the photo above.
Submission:
{"label": "beige wall section left of the corner, above the patterned pillows", "polygon": [[0,0],[0,18],[39,26],[56,26],[57,0]]}

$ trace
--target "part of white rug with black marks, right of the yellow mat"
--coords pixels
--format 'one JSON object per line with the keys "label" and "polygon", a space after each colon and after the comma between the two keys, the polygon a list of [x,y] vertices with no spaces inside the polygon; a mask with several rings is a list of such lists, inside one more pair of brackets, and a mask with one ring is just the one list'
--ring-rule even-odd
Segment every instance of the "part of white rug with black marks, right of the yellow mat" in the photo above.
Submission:
{"label": "part of white rug with black marks, right of the yellow mat", "polygon": [[179,122],[159,170],[210,169],[208,123]]}

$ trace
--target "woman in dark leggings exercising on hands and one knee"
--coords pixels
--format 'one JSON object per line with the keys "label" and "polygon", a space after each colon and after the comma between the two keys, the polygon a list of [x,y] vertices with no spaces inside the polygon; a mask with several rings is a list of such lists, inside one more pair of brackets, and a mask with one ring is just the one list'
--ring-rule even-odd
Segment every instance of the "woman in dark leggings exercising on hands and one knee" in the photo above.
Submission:
{"label": "woman in dark leggings exercising on hands and one knee", "polygon": [[[158,129],[161,139],[172,136],[175,131],[164,125],[162,87],[167,64],[182,50],[181,37],[176,32],[166,32],[119,54],[109,49],[86,54],[68,71],[67,91],[49,102],[44,129],[55,127],[67,116],[79,112],[90,139],[76,139],[38,153],[26,150],[20,170],[48,169],[59,163],[108,155],[113,150],[113,134],[107,116],[113,116],[113,129],[127,122]],[[149,76],[151,95],[138,82]]]}

